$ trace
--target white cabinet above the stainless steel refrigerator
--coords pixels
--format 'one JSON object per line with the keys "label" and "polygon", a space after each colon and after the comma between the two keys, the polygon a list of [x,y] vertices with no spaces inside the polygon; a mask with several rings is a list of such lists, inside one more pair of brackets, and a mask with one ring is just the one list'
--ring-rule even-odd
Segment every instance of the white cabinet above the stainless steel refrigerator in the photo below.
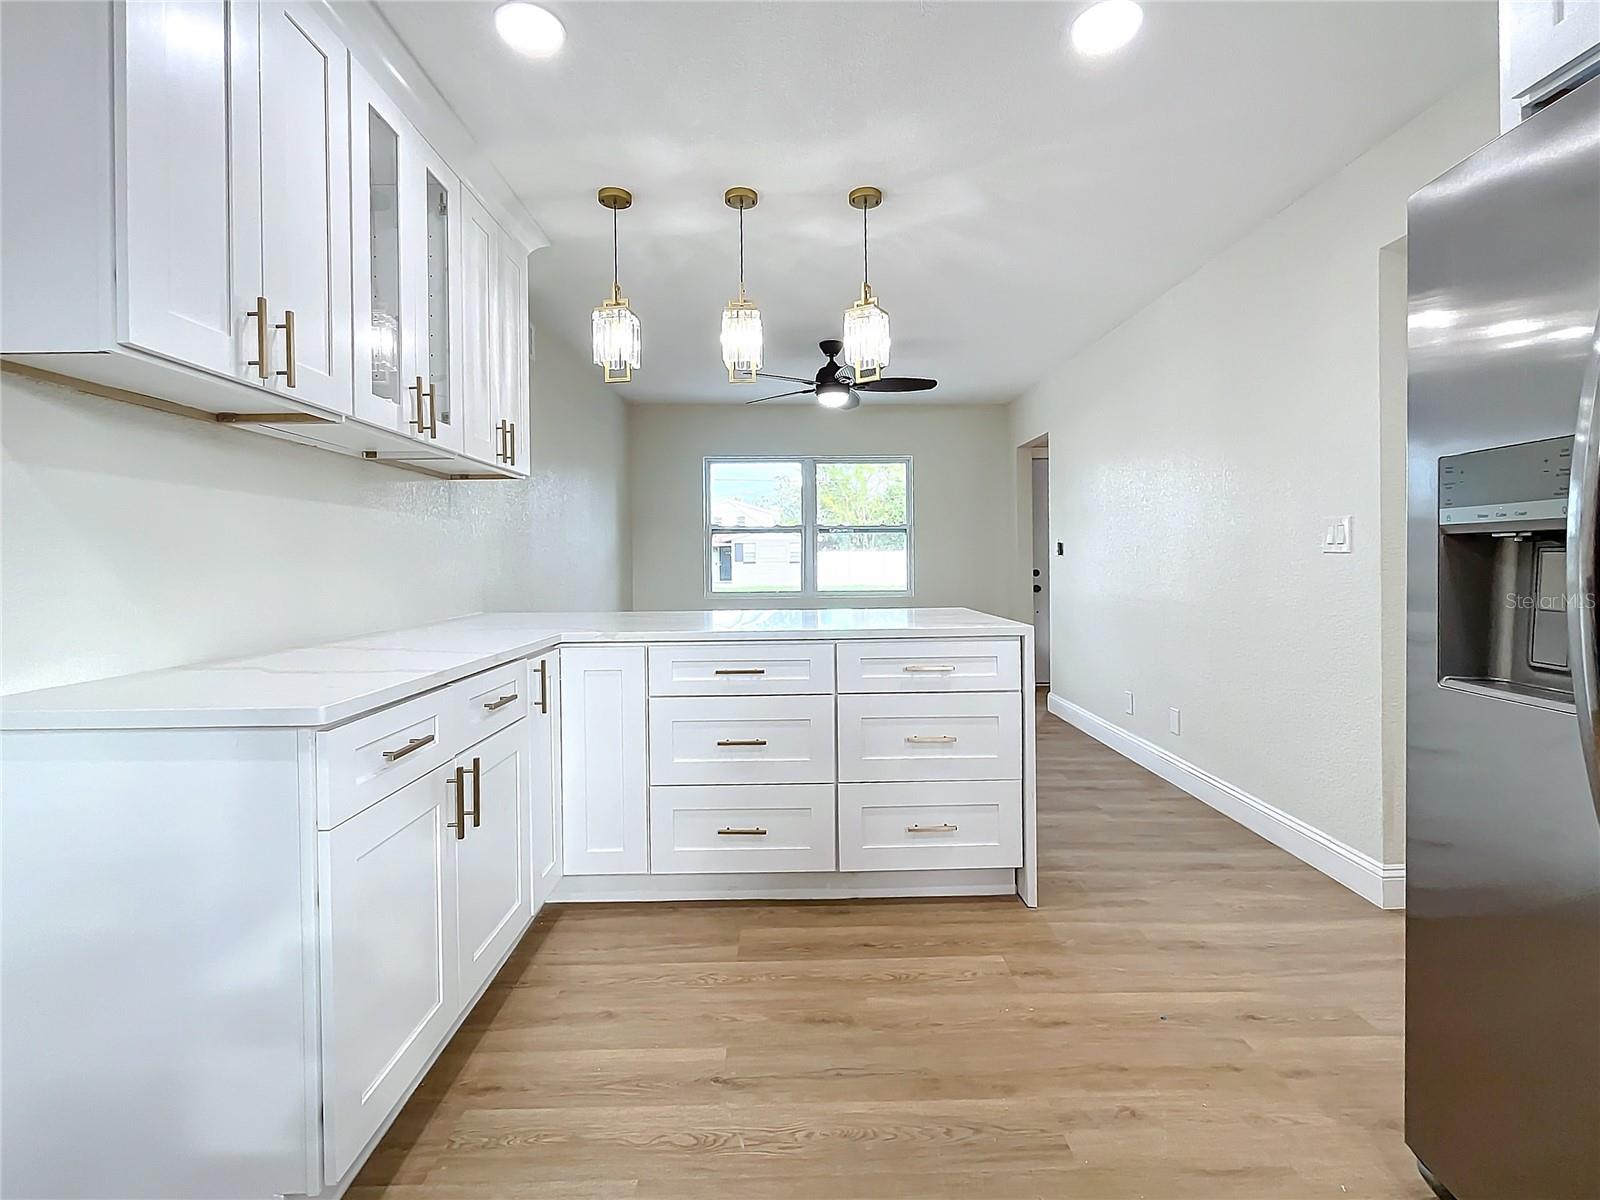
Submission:
{"label": "white cabinet above the stainless steel refrigerator", "polygon": [[1501,0],[1501,126],[1600,64],[1600,0]]}

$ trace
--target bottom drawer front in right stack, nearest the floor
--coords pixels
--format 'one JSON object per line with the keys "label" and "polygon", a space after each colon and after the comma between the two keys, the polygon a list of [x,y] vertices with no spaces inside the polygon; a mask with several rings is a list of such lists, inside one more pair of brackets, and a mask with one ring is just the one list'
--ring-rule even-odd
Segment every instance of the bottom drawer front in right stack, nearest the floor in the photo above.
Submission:
{"label": "bottom drawer front in right stack, nearest the floor", "polygon": [[1022,784],[840,784],[838,869],[1022,866]]}

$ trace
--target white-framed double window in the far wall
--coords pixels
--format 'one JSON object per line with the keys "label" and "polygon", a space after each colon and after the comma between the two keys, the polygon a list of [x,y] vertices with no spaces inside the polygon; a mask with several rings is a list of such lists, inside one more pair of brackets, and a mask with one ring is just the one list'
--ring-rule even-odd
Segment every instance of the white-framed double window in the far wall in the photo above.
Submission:
{"label": "white-framed double window in the far wall", "polygon": [[712,595],[910,592],[909,458],[706,459]]}

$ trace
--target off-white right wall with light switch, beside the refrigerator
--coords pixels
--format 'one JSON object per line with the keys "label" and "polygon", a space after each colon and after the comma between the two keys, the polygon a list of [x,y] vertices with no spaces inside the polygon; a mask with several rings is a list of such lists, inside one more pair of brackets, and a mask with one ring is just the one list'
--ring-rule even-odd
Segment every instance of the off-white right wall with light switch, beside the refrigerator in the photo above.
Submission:
{"label": "off-white right wall with light switch, beside the refrigerator", "polygon": [[[1054,693],[1387,862],[1379,253],[1494,133],[1485,77],[1013,405],[1014,443],[1050,435],[1066,542]],[[1341,514],[1354,554],[1323,555]]]}

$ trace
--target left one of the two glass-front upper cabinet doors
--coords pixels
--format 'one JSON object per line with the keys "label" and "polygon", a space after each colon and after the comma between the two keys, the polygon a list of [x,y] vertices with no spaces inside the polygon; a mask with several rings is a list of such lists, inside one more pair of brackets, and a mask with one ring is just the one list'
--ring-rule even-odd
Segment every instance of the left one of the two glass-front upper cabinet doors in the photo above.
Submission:
{"label": "left one of the two glass-front upper cabinet doors", "polygon": [[389,98],[350,64],[350,248],[355,261],[355,414],[386,429],[418,432],[422,397],[414,389],[411,346],[416,315],[406,282],[402,179],[416,134]]}

